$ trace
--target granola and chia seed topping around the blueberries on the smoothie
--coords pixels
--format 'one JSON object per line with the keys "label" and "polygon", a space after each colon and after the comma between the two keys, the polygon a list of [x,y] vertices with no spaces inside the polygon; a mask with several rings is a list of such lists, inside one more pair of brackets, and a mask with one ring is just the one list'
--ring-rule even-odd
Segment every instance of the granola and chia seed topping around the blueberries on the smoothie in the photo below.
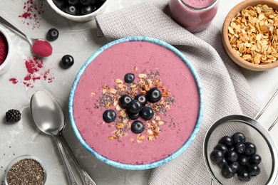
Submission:
{"label": "granola and chia seed topping around the blueberries on the smoothie", "polygon": [[[134,68],[134,73],[137,73],[133,83],[125,83],[120,78],[115,79],[115,85],[109,87],[108,85],[102,86],[102,93],[98,101],[95,102],[96,109],[112,109],[115,110],[117,117],[114,122],[106,123],[103,125],[108,127],[114,127],[115,130],[108,135],[108,139],[120,139],[120,137],[127,137],[130,132],[131,123],[128,117],[128,112],[120,107],[119,99],[122,95],[130,95],[135,97],[138,94],[146,95],[151,88],[159,88],[162,92],[161,100],[155,103],[148,102],[148,107],[153,108],[154,117],[151,120],[144,120],[145,130],[144,132],[137,134],[136,138],[130,138],[130,142],[143,142],[148,140],[150,142],[158,139],[160,132],[163,132],[163,125],[166,125],[166,121],[163,117],[166,116],[166,112],[170,110],[170,105],[175,102],[174,96],[171,96],[170,90],[165,88],[160,80],[160,73],[157,71],[142,71],[138,73],[138,68]],[[95,96],[97,93],[91,93],[91,96]],[[104,124],[105,123],[105,124]]]}

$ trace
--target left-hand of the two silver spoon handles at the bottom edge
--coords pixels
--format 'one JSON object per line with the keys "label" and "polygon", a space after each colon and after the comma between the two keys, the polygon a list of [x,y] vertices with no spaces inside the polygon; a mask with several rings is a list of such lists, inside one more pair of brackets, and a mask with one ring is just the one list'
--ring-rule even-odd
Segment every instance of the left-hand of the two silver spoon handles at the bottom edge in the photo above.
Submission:
{"label": "left-hand of the two silver spoon handles at the bottom edge", "polygon": [[66,158],[66,153],[65,151],[63,150],[63,147],[62,147],[62,143],[61,143],[61,139],[59,137],[58,134],[55,134],[53,135],[55,141],[56,141],[56,144],[58,146],[58,150],[61,154],[61,157],[62,157],[62,160],[63,160],[63,164],[66,168],[66,174],[68,176],[68,181],[69,181],[69,184],[71,185],[78,185],[77,181],[76,181],[76,178],[73,174],[73,171],[71,170],[71,166],[70,164],[68,163],[68,159]]}

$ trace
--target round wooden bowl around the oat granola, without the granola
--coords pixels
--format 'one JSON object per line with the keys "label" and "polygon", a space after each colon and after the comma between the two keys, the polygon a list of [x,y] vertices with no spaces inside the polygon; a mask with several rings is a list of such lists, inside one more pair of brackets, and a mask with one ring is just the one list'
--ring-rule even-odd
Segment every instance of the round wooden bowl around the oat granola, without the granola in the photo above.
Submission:
{"label": "round wooden bowl around the oat granola, without the granola", "polygon": [[223,27],[222,27],[222,41],[225,47],[225,50],[227,54],[230,56],[230,58],[237,63],[237,65],[240,65],[242,68],[246,68],[248,70],[269,70],[272,68],[276,68],[278,66],[278,60],[274,61],[269,64],[254,64],[247,60],[244,60],[241,58],[236,51],[232,48],[230,44],[230,39],[228,37],[228,27],[230,26],[230,23],[232,21],[232,18],[234,18],[238,12],[242,11],[242,9],[247,8],[247,6],[257,6],[257,4],[267,4],[267,6],[272,7],[274,10],[278,10],[278,2],[274,0],[245,0],[242,1],[240,4],[237,4],[230,12],[227,14],[227,17],[225,18]]}

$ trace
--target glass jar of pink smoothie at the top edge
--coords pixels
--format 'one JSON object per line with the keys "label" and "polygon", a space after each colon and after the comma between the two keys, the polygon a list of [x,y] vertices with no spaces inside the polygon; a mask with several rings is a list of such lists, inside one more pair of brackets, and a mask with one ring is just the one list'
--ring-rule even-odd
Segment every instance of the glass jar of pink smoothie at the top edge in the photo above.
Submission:
{"label": "glass jar of pink smoothie at the top edge", "polygon": [[170,16],[180,26],[195,33],[210,25],[219,0],[170,0]]}

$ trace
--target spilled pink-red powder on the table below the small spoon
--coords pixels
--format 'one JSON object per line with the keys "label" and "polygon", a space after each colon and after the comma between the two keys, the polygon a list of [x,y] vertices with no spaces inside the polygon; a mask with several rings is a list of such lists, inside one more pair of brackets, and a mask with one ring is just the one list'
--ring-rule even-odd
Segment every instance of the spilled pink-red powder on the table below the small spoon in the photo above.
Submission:
{"label": "spilled pink-red powder on the table below the small spoon", "polygon": [[16,84],[19,81],[23,83],[28,88],[34,88],[34,83],[37,80],[44,80],[48,83],[52,83],[54,76],[51,73],[50,68],[45,68],[43,65],[43,60],[40,58],[26,58],[25,59],[25,68],[26,75],[22,78],[22,80],[18,80],[17,78],[10,78],[9,81],[11,83]]}

